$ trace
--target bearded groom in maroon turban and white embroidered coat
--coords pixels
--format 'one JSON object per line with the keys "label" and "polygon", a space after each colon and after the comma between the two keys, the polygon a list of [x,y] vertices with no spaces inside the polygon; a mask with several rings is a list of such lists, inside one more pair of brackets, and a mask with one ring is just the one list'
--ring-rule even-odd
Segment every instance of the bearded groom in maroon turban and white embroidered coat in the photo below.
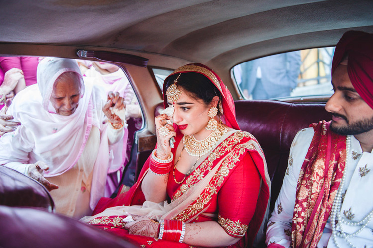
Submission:
{"label": "bearded groom in maroon turban and white embroidered coat", "polygon": [[332,85],[332,120],[299,131],[290,148],[268,247],[373,246],[373,34],[342,36]]}

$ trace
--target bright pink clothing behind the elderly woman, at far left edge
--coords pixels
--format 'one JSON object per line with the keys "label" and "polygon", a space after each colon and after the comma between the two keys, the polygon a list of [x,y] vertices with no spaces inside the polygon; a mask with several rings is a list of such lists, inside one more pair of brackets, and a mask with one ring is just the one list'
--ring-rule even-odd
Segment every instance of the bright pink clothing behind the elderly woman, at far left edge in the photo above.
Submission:
{"label": "bright pink clothing behind the elderly woman, at far left edge", "polygon": [[2,70],[2,73],[7,72],[11,68],[21,69],[24,74],[26,86],[33,85],[37,82],[36,70],[37,70],[38,64],[39,64],[39,57],[34,57],[34,56],[0,57],[0,68]]}

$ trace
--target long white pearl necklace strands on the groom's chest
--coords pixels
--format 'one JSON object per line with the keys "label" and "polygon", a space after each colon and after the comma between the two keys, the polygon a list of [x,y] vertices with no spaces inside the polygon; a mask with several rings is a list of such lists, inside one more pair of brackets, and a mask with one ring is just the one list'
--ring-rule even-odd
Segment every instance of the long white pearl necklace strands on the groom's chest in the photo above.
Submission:
{"label": "long white pearl necklace strands on the groom's chest", "polygon": [[[350,237],[356,236],[358,233],[360,233],[371,221],[373,217],[373,210],[367,214],[361,221],[355,222],[355,221],[349,221],[343,216],[341,216],[341,206],[342,206],[342,190],[344,188],[345,184],[345,178],[346,178],[346,169],[348,166],[348,161],[349,161],[349,156],[350,156],[350,147],[351,147],[351,136],[347,136],[346,138],[346,164],[345,168],[343,170],[343,176],[341,179],[341,183],[338,187],[337,193],[334,198],[333,206],[332,206],[332,212],[331,212],[331,226],[332,226],[332,236],[333,236],[333,241],[336,247],[340,248],[338,241],[337,241],[337,236],[343,238],[346,243],[352,247],[352,248],[357,248],[354,246],[348,239]],[[338,223],[336,223],[338,221]],[[347,234],[343,231],[343,227],[341,223],[348,225],[348,226],[360,226],[358,230],[356,230],[354,233]],[[337,225],[340,228],[341,231],[337,230]]]}

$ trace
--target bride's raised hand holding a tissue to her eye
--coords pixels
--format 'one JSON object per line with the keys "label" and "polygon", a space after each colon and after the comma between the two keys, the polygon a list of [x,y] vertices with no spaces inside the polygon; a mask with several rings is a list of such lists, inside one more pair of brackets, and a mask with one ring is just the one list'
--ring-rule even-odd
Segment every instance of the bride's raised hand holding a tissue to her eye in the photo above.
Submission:
{"label": "bride's raised hand holding a tissue to her eye", "polygon": [[167,159],[171,153],[170,139],[176,136],[174,127],[167,123],[170,120],[167,114],[156,116],[156,133],[157,133],[157,157]]}

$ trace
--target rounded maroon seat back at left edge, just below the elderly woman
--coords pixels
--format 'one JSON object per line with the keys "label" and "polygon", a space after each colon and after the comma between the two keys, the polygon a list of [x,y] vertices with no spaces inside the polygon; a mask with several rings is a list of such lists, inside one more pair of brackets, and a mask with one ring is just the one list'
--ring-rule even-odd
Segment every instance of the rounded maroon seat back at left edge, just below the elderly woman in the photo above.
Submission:
{"label": "rounded maroon seat back at left edge, just below the elderly woman", "polygon": [[36,180],[0,166],[0,205],[29,206],[54,211],[48,190]]}

